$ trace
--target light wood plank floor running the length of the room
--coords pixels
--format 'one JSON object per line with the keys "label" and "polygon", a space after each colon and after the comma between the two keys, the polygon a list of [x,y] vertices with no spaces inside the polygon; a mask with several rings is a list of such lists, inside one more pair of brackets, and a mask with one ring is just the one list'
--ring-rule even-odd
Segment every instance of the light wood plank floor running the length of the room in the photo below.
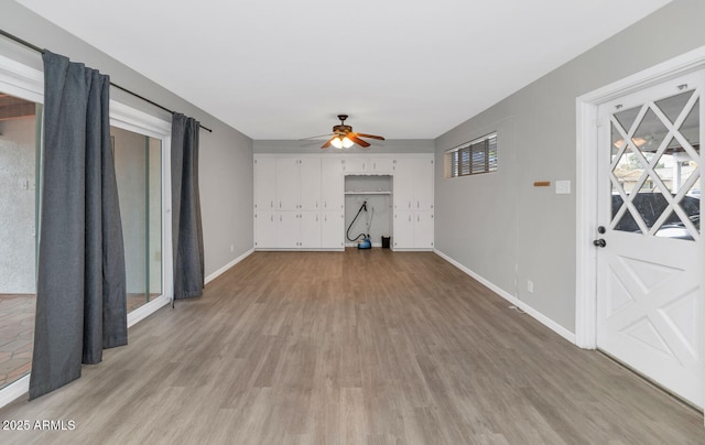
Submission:
{"label": "light wood plank floor running the length of the room", "polygon": [[[431,252],[256,252],[0,443],[704,444],[702,414]],[[66,424],[66,426],[68,426]]]}

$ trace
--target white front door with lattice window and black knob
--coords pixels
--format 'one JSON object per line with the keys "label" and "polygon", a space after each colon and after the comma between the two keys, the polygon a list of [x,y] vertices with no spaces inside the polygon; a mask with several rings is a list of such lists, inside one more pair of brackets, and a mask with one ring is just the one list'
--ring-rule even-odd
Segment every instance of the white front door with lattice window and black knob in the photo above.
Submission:
{"label": "white front door with lattice window and black knob", "polygon": [[701,152],[705,72],[598,109],[597,347],[705,402]]}

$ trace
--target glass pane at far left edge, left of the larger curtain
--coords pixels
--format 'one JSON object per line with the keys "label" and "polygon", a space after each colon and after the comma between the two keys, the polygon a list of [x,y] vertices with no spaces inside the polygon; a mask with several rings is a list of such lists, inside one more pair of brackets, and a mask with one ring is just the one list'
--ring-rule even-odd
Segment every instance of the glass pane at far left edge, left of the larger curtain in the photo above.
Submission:
{"label": "glass pane at far left edge, left of the larger curtain", "polygon": [[41,110],[0,91],[0,388],[32,359]]}

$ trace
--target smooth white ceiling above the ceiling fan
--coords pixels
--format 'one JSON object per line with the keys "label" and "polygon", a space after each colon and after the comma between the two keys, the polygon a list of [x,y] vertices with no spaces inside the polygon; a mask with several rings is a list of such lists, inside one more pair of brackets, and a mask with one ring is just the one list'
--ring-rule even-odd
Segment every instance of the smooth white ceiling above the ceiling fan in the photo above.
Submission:
{"label": "smooth white ceiling above the ceiling fan", "polygon": [[256,140],[433,139],[670,2],[17,1]]}

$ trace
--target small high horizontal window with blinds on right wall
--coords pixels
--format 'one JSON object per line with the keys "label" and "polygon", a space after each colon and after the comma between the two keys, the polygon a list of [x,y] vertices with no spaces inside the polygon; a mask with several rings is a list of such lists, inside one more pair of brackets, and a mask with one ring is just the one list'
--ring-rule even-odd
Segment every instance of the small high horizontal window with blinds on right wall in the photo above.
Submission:
{"label": "small high horizontal window with blinds on right wall", "polygon": [[465,142],[445,152],[445,177],[458,177],[497,170],[497,132]]}

